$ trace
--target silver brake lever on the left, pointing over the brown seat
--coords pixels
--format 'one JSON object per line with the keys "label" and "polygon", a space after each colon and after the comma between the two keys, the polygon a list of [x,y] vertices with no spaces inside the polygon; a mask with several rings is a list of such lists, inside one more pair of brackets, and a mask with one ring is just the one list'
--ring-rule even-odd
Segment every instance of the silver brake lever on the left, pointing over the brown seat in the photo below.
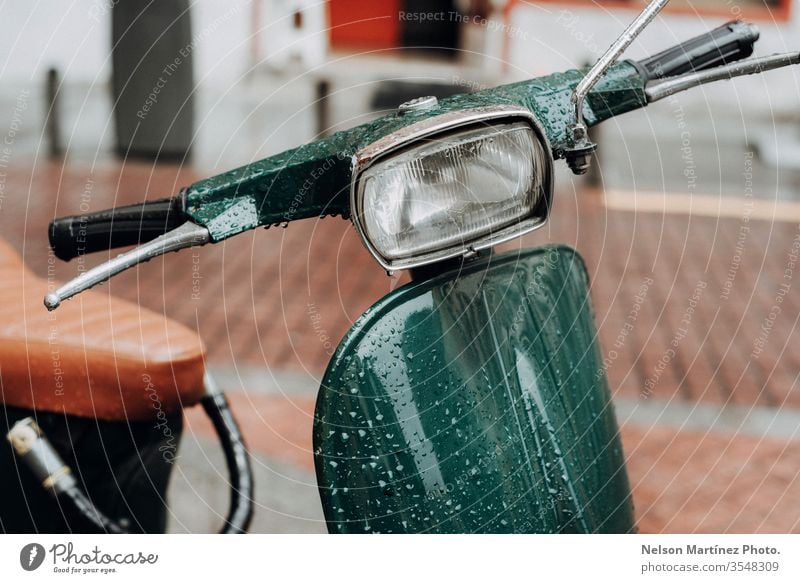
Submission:
{"label": "silver brake lever on the left, pointing over the brown seat", "polygon": [[160,255],[180,251],[188,247],[205,245],[210,241],[211,234],[207,228],[187,221],[144,245],[117,255],[113,259],[81,273],[56,291],[47,294],[44,298],[44,305],[52,312],[61,305],[62,301],[101,284],[126,269],[150,261]]}

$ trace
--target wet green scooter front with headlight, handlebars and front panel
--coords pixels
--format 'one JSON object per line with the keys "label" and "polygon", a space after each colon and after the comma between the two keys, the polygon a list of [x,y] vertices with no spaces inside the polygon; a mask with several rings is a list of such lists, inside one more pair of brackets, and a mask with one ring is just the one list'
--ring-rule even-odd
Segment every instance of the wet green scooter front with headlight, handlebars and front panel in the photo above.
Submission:
{"label": "wet green scooter front with headlight, handlebars and front panel", "polygon": [[167,252],[339,215],[412,282],[369,308],[333,355],[314,419],[331,532],[635,530],[587,273],[564,246],[493,254],[540,228],[554,161],[584,173],[587,128],[674,93],[800,63],[750,58],[732,22],[643,61],[623,51],[654,0],[588,71],[423,97],[367,125],[202,180],[178,196],[54,221],[56,255],[140,246],[45,298]]}

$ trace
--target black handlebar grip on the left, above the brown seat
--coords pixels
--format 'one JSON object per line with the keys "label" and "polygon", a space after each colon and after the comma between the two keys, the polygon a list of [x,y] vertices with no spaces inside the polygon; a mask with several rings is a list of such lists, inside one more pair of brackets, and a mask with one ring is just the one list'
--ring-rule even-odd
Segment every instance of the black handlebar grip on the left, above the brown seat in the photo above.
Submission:
{"label": "black handlebar grip on the left, above the brown seat", "polygon": [[50,246],[69,261],[86,253],[152,241],[186,222],[182,196],[56,219],[50,223]]}

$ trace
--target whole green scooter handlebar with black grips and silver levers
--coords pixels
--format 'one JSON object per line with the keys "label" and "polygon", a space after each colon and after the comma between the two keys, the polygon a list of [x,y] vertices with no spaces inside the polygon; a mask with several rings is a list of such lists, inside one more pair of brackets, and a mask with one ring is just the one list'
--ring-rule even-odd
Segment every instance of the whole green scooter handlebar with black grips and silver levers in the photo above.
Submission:
{"label": "whole green scooter handlebar with black grips and silver levers", "polygon": [[[651,6],[655,8],[643,13],[644,20],[651,18],[661,5],[654,0]],[[604,71],[601,79],[570,70],[454,96],[430,111],[389,114],[206,178],[174,199],[56,220],[50,227],[50,242],[56,256],[62,259],[143,244],[81,273],[48,294],[44,303],[47,309],[54,310],[62,300],[134,265],[187,247],[217,243],[260,226],[315,217],[349,217],[352,163],[358,152],[392,133],[410,131],[414,124],[434,123],[439,115],[479,111],[494,103],[526,108],[538,116],[553,156],[567,157],[570,152],[571,165],[580,169],[581,158],[593,150],[588,138],[586,143],[580,143],[578,138],[585,138],[585,128],[579,132],[582,124],[576,124],[571,115],[582,102],[572,96],[583,85],[591,89],[585,95],[587,108],[583,112],[585,126],[590,127],[691,87],[800,63],[796,52],[747,58],[759,38],[758,29],[734,21],[642,61],[618,61],[606,67],[607,61],[618,56],[617,49],[629,44],[635,28],[612,45],[614,50],[608,53],[611,57],[599,62],[599,69],[593,68]]]}

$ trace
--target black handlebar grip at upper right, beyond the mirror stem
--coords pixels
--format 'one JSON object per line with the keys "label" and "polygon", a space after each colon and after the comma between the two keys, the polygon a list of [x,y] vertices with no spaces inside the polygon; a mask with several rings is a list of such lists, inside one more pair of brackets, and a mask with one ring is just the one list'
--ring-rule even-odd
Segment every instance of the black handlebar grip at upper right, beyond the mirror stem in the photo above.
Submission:
{"label": "black handlebar grip at upper right, beyond the mirror stem", "polygon": [[636,64],[646,81],[712,69],[752,55],[759,36],[754,24],[735,20]]}

